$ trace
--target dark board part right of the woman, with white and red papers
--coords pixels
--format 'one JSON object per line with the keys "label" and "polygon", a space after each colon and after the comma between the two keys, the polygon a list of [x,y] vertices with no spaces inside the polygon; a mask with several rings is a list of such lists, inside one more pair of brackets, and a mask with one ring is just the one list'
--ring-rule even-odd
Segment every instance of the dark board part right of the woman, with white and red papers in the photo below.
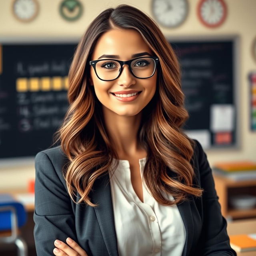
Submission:
{"label": "dark board part right of the woman, with white and red papers", "polygon": [[238,36],[168,39],[182,71],[188,136],[204,149],[239,146]]}

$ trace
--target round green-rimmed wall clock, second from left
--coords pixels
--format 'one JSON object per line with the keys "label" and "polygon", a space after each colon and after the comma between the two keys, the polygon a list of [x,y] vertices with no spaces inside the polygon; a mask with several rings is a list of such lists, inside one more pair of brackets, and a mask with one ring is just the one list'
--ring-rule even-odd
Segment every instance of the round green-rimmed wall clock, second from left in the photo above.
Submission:
{"label": "round green-rimmed wall clock, second from left", "polygon": [[63,0],[60,3],[60,15],[68,21],[78,20],[83,12],[83,6],[78,0]]}

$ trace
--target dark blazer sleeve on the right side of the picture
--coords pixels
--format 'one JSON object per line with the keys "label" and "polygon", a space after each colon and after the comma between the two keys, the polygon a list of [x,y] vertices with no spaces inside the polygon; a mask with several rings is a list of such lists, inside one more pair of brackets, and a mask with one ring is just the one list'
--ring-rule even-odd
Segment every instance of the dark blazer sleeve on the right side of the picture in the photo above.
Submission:
{"label": "dark blazer sleeve on the right side of the picture", "polygon": [[[195,140],[196,141],[196,140]],[[215,190],[212,169],[201,144],[196,141],[198,148],[198,167],[200,172],[201,187],[204,188],[202,196],[203,228],[198,247],[203,256],[234,255],[236,252],[230,247],[230,239],[227,234],[227,222],[220,211],[220,203]]]}

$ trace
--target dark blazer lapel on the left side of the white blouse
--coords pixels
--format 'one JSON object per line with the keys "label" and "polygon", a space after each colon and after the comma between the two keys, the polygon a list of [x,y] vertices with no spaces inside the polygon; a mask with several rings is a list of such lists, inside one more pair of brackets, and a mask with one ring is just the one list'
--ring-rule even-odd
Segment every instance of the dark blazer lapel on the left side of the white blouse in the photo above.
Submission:
{"label": "dark blazer lapel on the left side of the white blouse", "polygon": [[110,256],[118,256],[116,229],[114,222],[114,211],[108,173],[98,178],[93,185],[93,192],[90,194],[100,230]]}

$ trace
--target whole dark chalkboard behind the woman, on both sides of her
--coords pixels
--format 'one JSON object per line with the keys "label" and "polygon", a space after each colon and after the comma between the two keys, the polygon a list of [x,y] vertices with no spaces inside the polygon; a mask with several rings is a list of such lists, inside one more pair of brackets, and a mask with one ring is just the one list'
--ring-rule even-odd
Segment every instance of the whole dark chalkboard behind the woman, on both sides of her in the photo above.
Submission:
{"label": "whole dark chalkboard behind the woman, on both sides of her", "polygon": [[[237,146],[237,39],[170,38],[190,114],[184,129],[204,148]],[[0,158],[49,148],[68,108],[68,70],[78,40],[0,39]]]}

